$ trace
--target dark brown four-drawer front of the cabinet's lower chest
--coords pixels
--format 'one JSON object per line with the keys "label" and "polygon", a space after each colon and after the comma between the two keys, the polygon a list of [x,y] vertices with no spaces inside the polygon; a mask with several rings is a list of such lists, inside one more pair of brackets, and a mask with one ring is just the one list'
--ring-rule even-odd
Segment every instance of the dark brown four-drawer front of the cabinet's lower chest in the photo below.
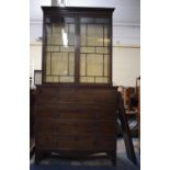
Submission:
{"label": "dark brown four-drawer front of the cabinet's lower chest", "polygon": [[[66,97],[70,93],[72,95],[69,101]],[[115,90],[107,88],[47,90],[45,87],[38,87],[36,148],[44,151],[59,150],[60,154],[69,150],[72,155],[75,150],[82,151],[82,155],[83,150],[90,152],[113,150],[113,155],[116,154],[116,94]]]}

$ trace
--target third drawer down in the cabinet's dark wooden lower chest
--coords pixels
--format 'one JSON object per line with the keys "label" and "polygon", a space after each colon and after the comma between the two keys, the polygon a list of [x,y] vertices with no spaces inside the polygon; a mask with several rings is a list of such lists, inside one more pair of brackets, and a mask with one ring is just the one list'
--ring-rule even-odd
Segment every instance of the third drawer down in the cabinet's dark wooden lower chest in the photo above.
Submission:
{"label": "third drawer down in the cabinet's dark wooden lower chest", "polygon": [[116,125],[114,122],[66,122],[66,121],[38,121],[37,134],[59,135],[114,135]]}

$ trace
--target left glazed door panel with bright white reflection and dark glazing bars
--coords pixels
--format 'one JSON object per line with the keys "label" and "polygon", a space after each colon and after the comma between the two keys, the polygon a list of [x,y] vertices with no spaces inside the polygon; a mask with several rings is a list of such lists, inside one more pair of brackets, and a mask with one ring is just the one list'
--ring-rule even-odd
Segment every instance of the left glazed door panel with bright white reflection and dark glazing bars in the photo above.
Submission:
{"label": "left glazed door panel with bright white reflection and dark glazing bars", "polygon": [[52,18],[46,27],[46,82],[75,81],[75,18]]}

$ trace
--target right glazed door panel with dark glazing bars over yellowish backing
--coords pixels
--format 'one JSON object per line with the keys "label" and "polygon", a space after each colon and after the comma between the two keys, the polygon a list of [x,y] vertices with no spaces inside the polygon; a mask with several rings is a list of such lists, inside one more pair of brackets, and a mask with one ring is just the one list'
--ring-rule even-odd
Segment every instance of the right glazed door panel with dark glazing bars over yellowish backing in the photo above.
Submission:
{"label": "right glazed door panel with dark glazing bars over yellowish backing", "polygon": [[109,83],[109,19],[80,19],[80,82]]}

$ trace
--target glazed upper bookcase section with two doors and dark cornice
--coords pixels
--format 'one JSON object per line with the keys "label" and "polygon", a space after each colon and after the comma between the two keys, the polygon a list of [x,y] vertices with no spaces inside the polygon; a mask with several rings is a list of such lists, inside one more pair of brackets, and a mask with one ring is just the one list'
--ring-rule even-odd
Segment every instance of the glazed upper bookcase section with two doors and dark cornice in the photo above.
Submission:
{"label": "glazed upper bookcase section with two doors and dark cornice", "polygon": [[42,9],[43,84],[112,86],[114,9]]}

